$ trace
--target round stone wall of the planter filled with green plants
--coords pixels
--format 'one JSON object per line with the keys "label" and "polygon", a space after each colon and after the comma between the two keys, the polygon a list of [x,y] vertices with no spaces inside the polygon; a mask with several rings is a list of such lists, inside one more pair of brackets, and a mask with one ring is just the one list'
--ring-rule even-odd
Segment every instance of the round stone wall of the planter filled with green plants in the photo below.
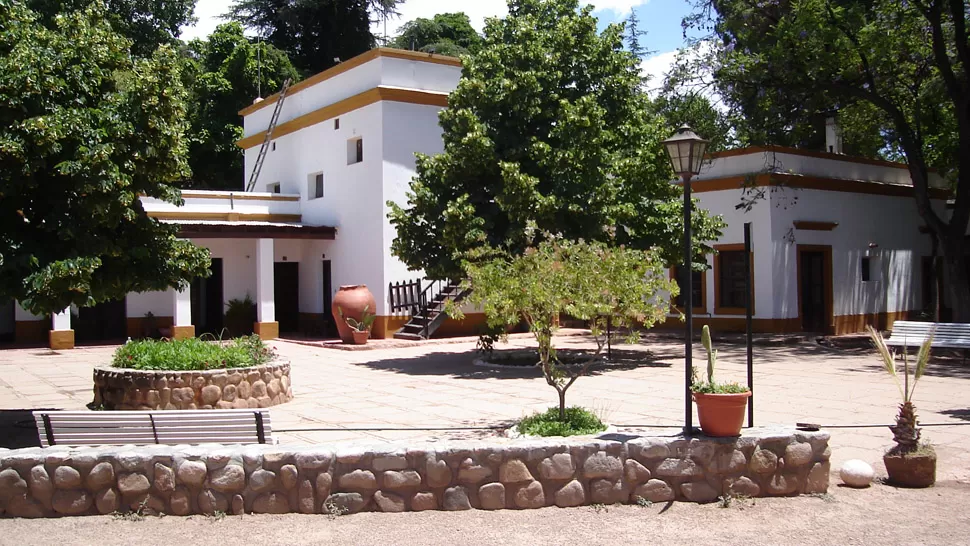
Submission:
{"label": "round stone wall of the planter filled with green plants", "polygon": [[290,363],[167,371],[95,368],[95,407],[106,410],[268,408],[293,399]]}

